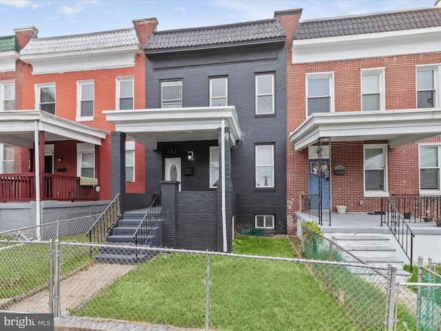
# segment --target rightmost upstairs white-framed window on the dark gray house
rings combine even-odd
[[[256,74],[256,114],[274,114],[274,74]]]

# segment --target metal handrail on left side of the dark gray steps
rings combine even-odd
[[[90,242],[103,242],[120,217],[121,196],[118,194],[88,230],[87,235],[90,238]]]

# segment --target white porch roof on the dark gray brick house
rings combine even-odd
[[[217,140],[225,119],[230,145],[242,137],[234,106],[108,110],[103,112],[116,131],[152,149],[158,142]]]

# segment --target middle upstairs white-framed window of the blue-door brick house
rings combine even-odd
[[[361,109],[384,110],[384,69],[361,70]]]

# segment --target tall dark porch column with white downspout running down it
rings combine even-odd
[[[222,134],[222,131],[225,131]],[[227,252],[232,251],[232,217],[233,217],[233,184],[231,177],[231,149],[229,147],[229,128],[218,128],[219,146],[219,180],[217,189],[217,250],[224,251],[224,242],[227,241]],[[223,150],[222,150],[223,149]],[[223,158],[224,156],[224,158]],[[222,168],[223,167],[223,168]],[[223,174],[225,180],[223,179]],[[223,184],[225,183],[225,187]],[[223,195],[224,194],[224,195]],[[223,199],[225,199],[223,205]],[[225,217],[225,219],[224,219]],[[225,222],[225,233],[223,229]],[[226,238],[224,238],[226,237]]]

